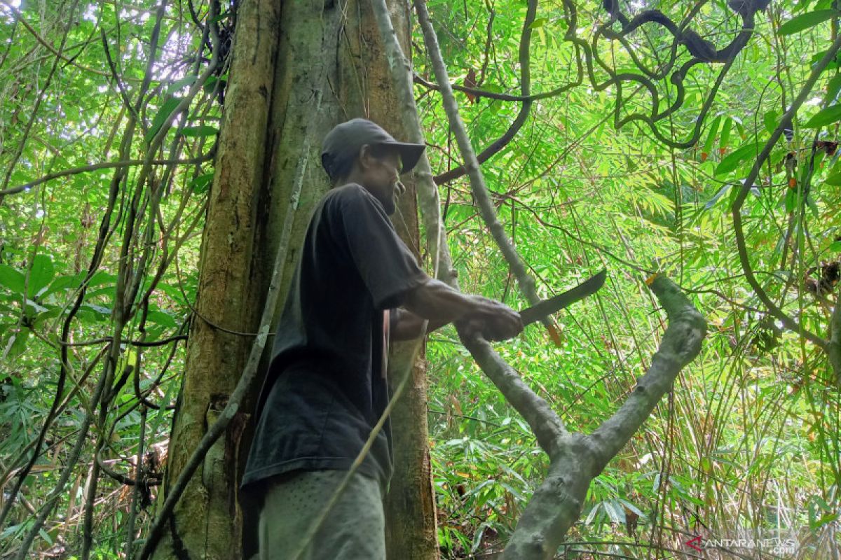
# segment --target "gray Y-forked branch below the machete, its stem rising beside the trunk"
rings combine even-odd
[[[394,72],[404,121],[411,131],[412,141],[420,142],[423,132],[411,96],[408,62],[394,36],[384,0],[372,1],[389,65]],[[421,6],[417,3],[417,7]],[[431,34],[434,35],[434,31]],[[478,170],[478,165],[468,165],[470,167]],[[440,250],[436,264],[440,262],[448,266],[452,260],[443,238],[436,186],[431,181],[426,159],[421,163],[417,178],[421,218],[426,231],[441,236],[435,240],[437,243],[431,245]],[[431,254],[437,253],[433,250]],[[447,280],[453,287],[458,287],[454,277]],[[629,395],[626,403],[590,436],[567,432],[558,414],[526,385],[489,343],[481,338],[462,337],[473,359],[532,427],[538,443],[551,461],[546,479],[535,491],[505,547],[506,558],[546,560],[553,557],[569,527],[578,520],[592,479],[642,426],[653,407],[672,386],[680,369],[701,351],[701,340],[706,333],[706,321],[701,314],[676,285],[662,276],[653,280],[651,290],[669,317],[669,327],[659,351],[654,354],[651,367],[639,379],[637,389]]]

